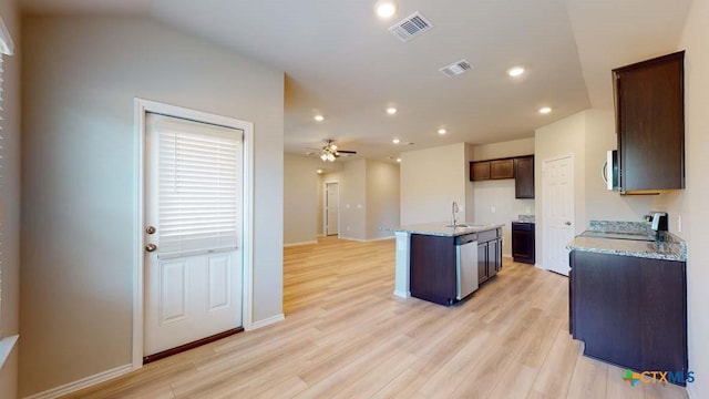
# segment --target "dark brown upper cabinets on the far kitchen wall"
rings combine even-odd
[[[514,178],[515,198],[534,198],[534,155],[470,163],[471,182],[505,178]]]

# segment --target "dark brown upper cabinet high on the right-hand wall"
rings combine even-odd
[[[685,188],[685,52],[613,70],[621,194]]]

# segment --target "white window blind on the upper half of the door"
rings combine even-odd
[[[156,116],[158,257],[234,250],[240,234],[242,131]]]

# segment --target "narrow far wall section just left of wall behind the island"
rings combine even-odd
[[[392,237],[380,227],[399,225],[399,165],[367,161],[367,239]]]

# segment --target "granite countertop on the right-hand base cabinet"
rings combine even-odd
[[[566,245],[571,250],[687,262],[687,246],[679,237],[664,233],[662,241],[635,241],[577,236]]]

